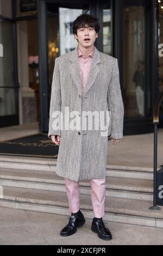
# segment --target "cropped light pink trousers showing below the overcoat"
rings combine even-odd
[[[104,216],[105,178],[90,180],[90,184],[93,214],[96,218],[101,218]],[[65,186],[69,209],[72,213],[75,213],[80,209],[79,181],[73,181],[65,178]]]

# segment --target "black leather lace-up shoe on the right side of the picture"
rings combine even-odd
[[[105,222],[108,223],[108,222]],[[102,218],[93,218],[91,230],[97,233],[98,237],[104,240],[111,240],[112,235],[108,227],[105,226]]]

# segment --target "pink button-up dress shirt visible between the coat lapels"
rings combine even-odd
[[[82,93],[84,95],[85,93],[85,87],[86,87],[86,81],[87,81],[87,76],[89,75],[91,63],[92,63],[92,58],[93,54],[95,52],[95,46],[93,46],[93,50],[91,53],[85,58],[80,51],[80,48],[78,47],[78,59],[79,59],[79,68],[80,68],[80,81],[81,81],[81,86],[82,86]]]

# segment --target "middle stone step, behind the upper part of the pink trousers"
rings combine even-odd
[[[0,185],[66,192],[65,180],[54,172],[0,168]],[[80,181],[80,192],[91,194],[90,181]],[[106,196],[153,200],[153,181],[106,176]]]

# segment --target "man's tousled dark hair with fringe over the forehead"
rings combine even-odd
[[[77,17],[76,20],[74,20],[73,25],[72,25],[72,31],[73,34],[77,35],[77,29],[82,28],[82,27],[92,27],[95,29],[96,33],[98,33],[100,26],[99,26],[99,19],[96,17],[90,15],[90,14],[82,14]]]

